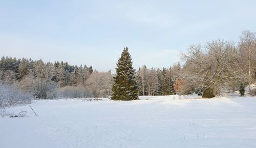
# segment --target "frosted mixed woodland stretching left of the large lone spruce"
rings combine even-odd
[[[39,99],[108,97],[113,81],[111,71],[98,72],[92,66],[8,56],[0,60],[0,78]]]

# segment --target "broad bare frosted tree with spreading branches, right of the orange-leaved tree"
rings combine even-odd
[[[190,91],[202,87],[212,88],[214,95],[234,87],[235,81],[242,79],[238,66],[238,52],[233,42],[214,40],[201,45],[191,45],[182,54],[186,62],[181,79]]]

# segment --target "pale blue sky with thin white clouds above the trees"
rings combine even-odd
[[[0,56],[115,71],[172,66],[190,44],[256,32],[256,1],[0,1]]]

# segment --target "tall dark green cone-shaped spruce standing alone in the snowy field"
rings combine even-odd
[[[135,69],[132,58],[125,47],[117,62],[116,75],[112,85],[111,100],[138,100],[138,86],[135,80]]]

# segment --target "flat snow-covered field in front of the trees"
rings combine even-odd
[[[28,117],[0,117],[0,147],[256,147],[256,97],[197,97],[36,100],[6,109]]]

